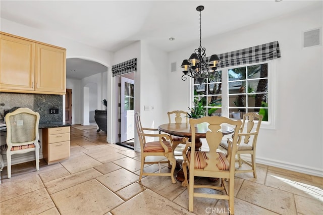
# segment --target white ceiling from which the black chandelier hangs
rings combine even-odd
[[[53,35],[93,47],[116,51],[145,40],[165,51],[199,45],[199,12],[203,5],[202,39],[268,19],[316,7],[321,1],[3,1],[0,16]],[[170,41],[169,38],[175,40]],[[76,78],[70,66],[83,68],[88,61],[67,60],[67,76]],[[94,64],[96,65],[96,63]],[[101,64],[96,65],[98,70]],[[94,71],[93,71],[94,70]],[[106,70],[105,70],[106,71]],[[78,76],[80,78],[80,76]]]

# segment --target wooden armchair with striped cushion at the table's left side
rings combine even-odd
[[[142,176],[171,176],[172,183],[175,184],[174,171],[176,167],[176,159],[170,142],[170,135],[155,133],[158,132],[157,129],[143,128],[139,113],[136,113],[135,119],[141,152],[139,182],[141,182]],[[155,158],[151,158],[150,161],[146,161],[147,156],[155,156]],[[167,160],[160,160],[160,156],[166,157]],[[159,172],[144,172],[144,165],[151,164],[158,164]],[[162,173],[160,164],[169,164],[169,166],[171,166],[171,172]]]

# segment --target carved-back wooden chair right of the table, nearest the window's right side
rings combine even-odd
[[[257,123],[255,123],[257,122]],[[260,125],[262,122],[262,115],[257,113],[247,113],[243,115],[242,126],[238,134],[238,148],[236,152],[236,162],[239,163],[239,168],[236,168],[236,173],[253,173],[253,177],[257,178],[256,174],[256,145],[259,134]],[[219,146],[220,150],[228,150],[228,141],[222,140]],[[241,158],[241,154],[250,154],[251,162]],[[251,169],[240,169],[242,164],[245,163]]]

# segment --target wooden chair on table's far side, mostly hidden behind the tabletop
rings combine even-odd
[[[169,123],[182,123],[182,122],[188,123],[189,118],[188,118],[187,112],[185,111],[171,111],[171,112],[167,112],[167,115],[168,115]],[[179,144],[185,144],[185,142],[183,141],[183,137],[179,137],[175,135],[171,135],[171,137],[172,137],[172,148],[174,151],[174,156],[182,156],[182,153],[175,154],[175,149]]]

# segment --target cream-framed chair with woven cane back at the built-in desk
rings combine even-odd
[[[36,171],[39,170],[39,114],[28,108],[19,108],[5,117],[7,126],[6,145],[0,147],[1,170],[7,157],[8,178],[11,178],[11,155],[35,151]]]

